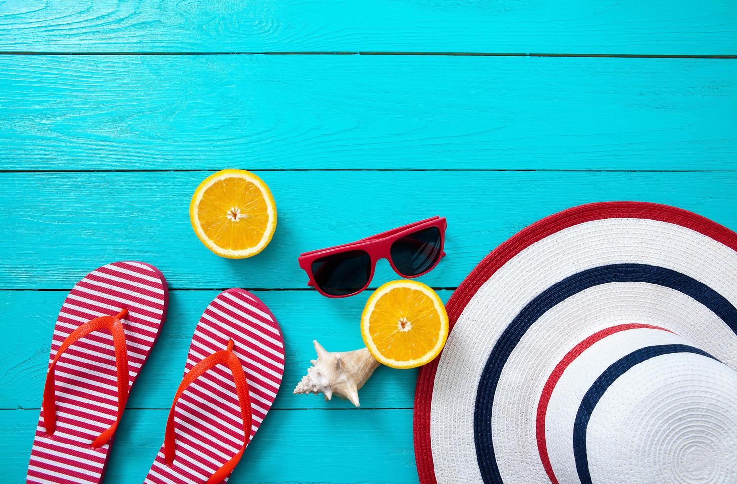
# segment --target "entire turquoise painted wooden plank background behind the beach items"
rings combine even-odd
[[[0,477],[21,482],[66,291],[105,262],[170,282],[108,483],[141,482],[200,312],[258,291],[284,385],[232,483],[412,483],[415,371],[294,396],[313,338],[362,346],[369,292],[307,290],[296,256],[432,215],[450,297],[514,232],[647,200],[737,229],[734,0],[0,1]],[[253,259],[209,253],[189,198],[223,168],[273,190]],[[396,278],[381,264],[374,287]]]

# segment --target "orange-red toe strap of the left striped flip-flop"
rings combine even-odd
[[[118,415],[113,424],[95,438],[92,446],[95,449],[104,446],[115,433],[115,429],[118,427],[120,418],[123,415],[123,410],[125,410],[125,401],[128,399],[128,352],[125,348],[125,332],[120,322],[120,319],[125,318],[126,315],[128,315],[128,310],[122,309],[115,316],[100,316],[99,318],[88,320],[77,329],[74,329],[66,337],[66,340],[61,343],[59,351],[56,352],[54,361],[52,361],[49,367],[49,373],[46,374],[46,386],[43,388],[43,425],[46,427],[46,432],[49,432],[50,435],[53,435],[56,431],[56,364],[69,346],[77,343],[78,340],[88,334],[101,329],[107,329],[113,336],[115,371],[118,383]]]

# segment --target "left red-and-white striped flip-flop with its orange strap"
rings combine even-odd
[[[99,483],[125,401],[167,313],[167,281],[143,262],[88,273],[52,338],[26,480]]]

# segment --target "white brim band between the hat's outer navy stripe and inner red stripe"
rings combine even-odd
[[[639,282],[591,287],[545,312],[512,351],[499,379],[492,414],[492,438],[502,476],[520,471],[530,482],[547,480],[539,466],[536,413],[542,387],[553,368],[585,337],[618,324],[647,323],[673,329],[696,346],[730,341],[733,332],[713,312],[682,292]],[[702,328],[713,328],[710,332]],[[630,330],[635,331],[635,330]],[[637,331],[654,331],[640,329]],[[607,338],[614,337],[609,336]],[[737,365],[728,347],[716,357]],[[514,431],[512,431],[514,429]],[[512,457],[514,455],[514,457]]]

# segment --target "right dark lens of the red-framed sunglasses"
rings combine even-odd
[[[402,236],[391,245],[394,267],[405,276],[416,276],[430,270],[440,259],[441,236],[437,227]]]

